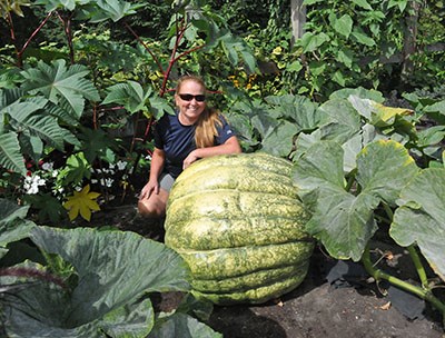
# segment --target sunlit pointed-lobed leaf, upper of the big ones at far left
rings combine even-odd
[[[31,93],[42,93],[55,105],[70,107],[73,118],[78,120],[83,112],[86,99],[100,99],[92,82],[86,79],[88,72],[81,64],[67,68],[65,60],[55,60],[51,64],[39,61],[37,68],[22,72],[26,78],[23,89]]]

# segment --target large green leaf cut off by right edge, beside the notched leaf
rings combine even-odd
[[[421,171],[400,192],[389,235],[407,247],[417,243],[445,281],[445,169]]]

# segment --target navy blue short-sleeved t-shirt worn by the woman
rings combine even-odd
[[[218,136],[215,138],[215,146],[224,145],[235,133],[226,119],[220,116],[222,126],[216,125]],[[184,126],[179,122],[178,112],[166,113],[155,126],[155,147],[166,153],[164,171],[177,178],[182,171],[182,162],[186,157],[196,149],[195,145],[196,126]]]

